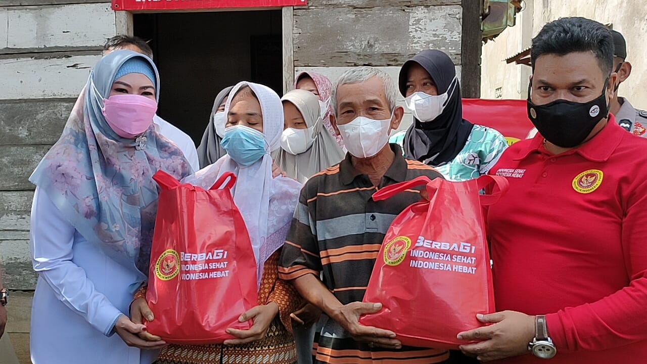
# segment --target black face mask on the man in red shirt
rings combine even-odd
[[[531,80],[528,85],[528,117],[547,141],[562,148],[578,146],[609,114],[605,98],[608,82],[607,78],[602,95],[589,102],[555,100],[545,105],[535,105],[530,100]]]

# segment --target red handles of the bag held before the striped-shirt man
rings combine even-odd
[[[443,181],[446,183],[452,183],[449,181],[445,181],[444,179],[435,179],[434,181],[432,181],[429,179],[429,177],[426,177],[426,176],[416,177],[414,179],[411,179],[411,181],[396,183],[395,185],[391,185],[380,189],[378,192],[375,192],[375,194],[373,194],[373,201],[382,201],[384,199],[389,199],[399,194],[400,192],[403,192],[413,187],[418,187],[420,185],[426,185],[428,198],[432,199],[433,194],[437,192],[438,186],[440,185],[440,183],[443,183]],[[501,198],[501,196],[509,188],[508,180],[505,177],[501,177],[501,176],[485,175],[485,176],[478,177],[476,181],[477,181],[478,190],[482,190],[483,188],[488,187],[492,183],[496,183],[497,187],[499,187],[498,191],[495,194],[479,195],[481,206],[494,205],[494,203],[496,203],[496,201],[499,201],[499,198]]]

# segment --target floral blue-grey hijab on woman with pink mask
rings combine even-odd
[[[108,97],[120,67],[134,57],[149,62],[155,71],[159,100],[153,61],[132,51],[111,52],[94,66],[63,134],[29,180],[86,240],[147,274],[158,200],[153,174],[164,170],[181,179],[191,167],[152,123],[137,139],[124,139],[105,121],[102,99]]]

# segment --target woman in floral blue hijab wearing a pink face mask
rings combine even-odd
[[[158,199],[152,176],[191,172],[181,150],[153,128],[158,89],[149,58],[132,51],[105,56],[30,177],[39,273],[30,337],[35,364],[149,364],[165,344],[127,316],[148,272]]]

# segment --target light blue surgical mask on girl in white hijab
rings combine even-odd
[[[265,135],[248,126],[236,125],[225,129],[220,142],[227,154],[241,166],[248,167],[267,154]]]

